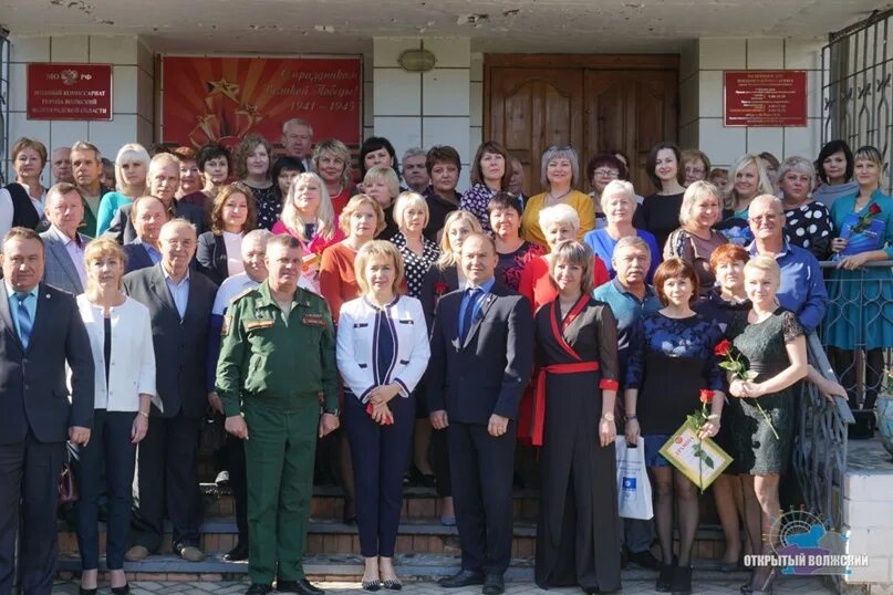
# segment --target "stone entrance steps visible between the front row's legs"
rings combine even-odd
[[[232,497],[218,490],[212,483],[203,484],[205,522],[201,526],[204,562],[191,563],[172,553],[170,530],[165,532],[162,554],[142,562],[125,562],[131,581],[241,581],[248,572],[247,562],[226,562],[228,552],[238,537]],[[359,555],[360,543],[355,525],[341,520],[343,498],[339,488],[315,488],[311,504],[311,522],[308,531],[304,568],[316,581],[359,581],[363,561]],[[515,493],[515,539],[512,564],[507,578],[532,581],[536,549],[536,518],[538,494],[533,490]],[[702,518],[713,503],[709,495],[702,499]],[[710,507],[712,508],[712,507]],[[403,500],[403,518],[396,544],[395,565],[406,581],[430,580],[453,574],[459,567],[459,543],[456,528],[440,524],[438,499],[432,489],[406,488]],[[105,549],[105,531],[100,530],[101,552]],[[77,575],[80,557],[77,539],[68,523],[59,524],[59,576],[68,580]],[[718,568],[723,555],[723,533],[715,525],[702,524],[695,543],[695,565],[704,571]],[[100,561],[101,574],[104,557]],[[715,571],[716,577],[728,578],[728,573]],[[710,573],[713,574],[713,573]],[[624,571],[624,580],[651,580],[654,573],[631,566]],[[745,578],[741,573],[741,578]]]

